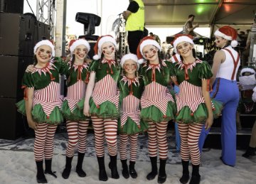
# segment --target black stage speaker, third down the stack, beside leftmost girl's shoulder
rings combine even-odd
[[[0,55],[0,97],[22,98],[21,80],[33,57]]]

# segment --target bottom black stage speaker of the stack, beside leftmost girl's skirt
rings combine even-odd
[[[15,140],[24,134],[26,117],[17,112],[16,102],[0,97],[0,139]]]

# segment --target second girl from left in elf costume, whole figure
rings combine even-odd
[[[71,171],[76,146],[78,146],[78,164],[76,173],[80,177],[85,177],[86,173],[82,170],[82,161],[85,156],[88,119],[85,117],[77,104],[85,97],[86,83],[89,80],[88,64],[90,60],[87,53],[90,51],[90,44],[85,39],[70,41],[71,60],[66,65],[65,75],[67,77],[68,92],[63,101],[62,112],[66,119],[68,131],[68,148],[66,151],[65,169],[62,173],[63,178],[67,179]]]

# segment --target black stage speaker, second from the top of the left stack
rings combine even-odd
[[[33,56],[33,47],[50,38],[50,26],[26,13],[0,13],[0,55]]]

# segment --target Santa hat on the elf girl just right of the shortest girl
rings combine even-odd
[[[139,64],[142,64],[144,62],[143,58],[145,58],[145,55],[143,54],[142,49],[146,45],[154,45],[156,48],[158,48],[161,51],[161,46],[159,45],[159,43],[156,42],[156,40],[154,40],[152,36],[146,36],[142,38],[142,40],[139,42],[139,45],[137,47],[137,56],[139,59],[138,61]]]

